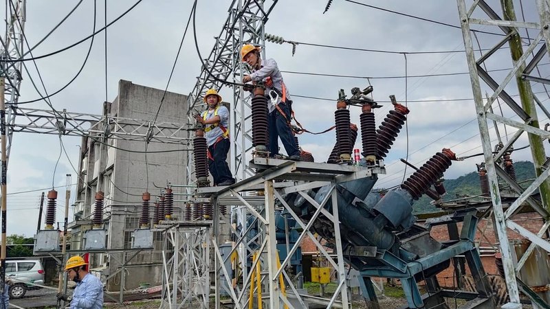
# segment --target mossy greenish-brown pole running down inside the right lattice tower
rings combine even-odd
[[[503,18],[507,21],[516,21],[516,10],[514,10],[514,1],[512,0],[500,0],[500,5],[503,8]],[[514,29],[514,28],[510,28]],[[516,63],[521,56],[523,56],[523,47],[520,34],[517,31],[511,30],[510,39],[508,41],[510,47],[510,54],[514,63]],[[518,84],[518,92],[520,95],[521,106],[525,113],[531,117],[530,126],[540,128],[538,124],[537,110],[535,102],[533,101],[533,91],[531,84],[528,80],[522,78],[522,72],[525,70],[525,63],[521,63],[518,71],[516,71],[516,82]],[[540,176],[544,170],[542,165],[546,161],[546,153],[544,153],[544,146],[542,144],[542,138],[540,135],[527,133],[529,138],[529,147],[531,149],[531,155],[533,156],[533,165],[535,165],[535,174]],[[550,211],[550,182],[546,179],[541,183],[540,198],[542,199],[542,207]]]

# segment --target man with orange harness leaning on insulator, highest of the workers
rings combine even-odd
[[[247,62],[252,67],[252,73],[243,77],[243,83],[260,80],[265,83],[265,94],[269,109],[267,127],[270,135],[270,157],[279,155],[278,139],[281,138],[289,159],[300,161],[300,150],[296,146],[290,127],[292,100],[290,100],[288,89],[285,82],[283,82],[283,76],[277,67],[277,62],[271,58],[262,60],[260,47],[254,47],[252,44],[243,46],[241,58],[243,62]],[[276,100],[272,102],[272,98],[276,98]]]

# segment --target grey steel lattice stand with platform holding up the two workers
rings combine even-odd
[[[385,171],[380,169],[367,169],[360,168],[357,166],[350,165],[327,165],[325,163],[309,163],[309,162],[293,162],[279,159],[265,159],[265,158],[254,158],[252,161],[252,168],[259,168],[264,170],[259,174],[256,174],[252,177],[249,177],[245,181],[241,181],[235,186],[232,187],[223,187],[219,189],[218,187],[202,187],[198,188],[197,192],[203,195],[212,195],[212,202],[214,203],[214,209],[219,208],[219,205],[240,205],[243,209],[246,209],[245,213],[254,218],[255,223],[252,225],[257,225],[258,231],[254,239],[248,237],[248,229],[245,225],[239,229],[232,229],[234,236],[236,238],[232,251],[227,253],[227,255],[222,256],[221,250],[219,249],[219,241],[217,240],[216,229],[217,218],[219,214],[214,218],[214,236],[212,236],[212,247],[216,253],[216,261],[214,266],[214,272],[216,275],[216,295],[219,295],[219,290],[223,286],[221,279],[221,274],[225,278],[230,278],[230,272],[225,268],[225,260],[227,260],[232,253],[245,252],[244,255],[239,254],[239,262],[241,264],[241,280],[237,278],[237,284],[234,288],[228,288],[232,286],[232,282],[225,282],[226,291],[232,299],[232,303],[235,308],[248,308],[250,301],[250,289],[251,289],[251,279],[253,271],[245,271],[249,265],[248,262],[252,262],[250,266],[251,270],[256,268],[257,263],[261,263],[261,295],[264,295],[265,303],[268,305],[267,308],[276,309],[283,308],[281,306],[281,301],[288,308],[296,308],[292,306],[289,301],[288,296],[292,295],[300,307],[305,308],[304,305],[304,296],[298,293],[294,283],[290,279],[289,275],[285,271],[285,266],[289,265],[292,255],[296,252],[298,247],[300,247],[302,240],[305,238],[311,238],[311,240],[316,244],[318,251],[323,255],[324,258],[333,266],[337,271],[338,276],[338,288],[336,292],[333,293],[330,299],[327,300],[327,308],[333,308],[337,298],[340,297],[338,301],[338,308],[350,308],[351,303],[347,294],[347,282],[346,282],[346,269],[342,249],[342,236],[340,235],[340,220],[338,218],[338,207],[331,207],[331,210],[325,209],[325,204],[328,201],[331,201],[332,205],[338,205],[337,201],[337,190],[336,185],[340,182],[350,181],[351,179],[360,179],[364,177],[370,177],[374,172],[383,173]],[[274,182],[274,179],[296,179],[296,173],[301,174],[300,181],[292,180],[286,182]],[[302,172],[302,173],[300,173]],[[311,173],[309,172],[318,172]],[[322,175],[322,176],[321,176]],[[318,203],[311,198],[308,193],[309,190],[322,187],[325,185],[330,185],[331,190],[327,192],[327,195]],[[250,196],[244,194],[245,192],[255,192],[257,190],[263,190],[263,196]],[[296,192],[307,199],[311,205],[316,207],[316,212],[311,216],[308,222],[305,222],[296,214],[294,209],[284,199],[286,194]],[[276,201],[282,205],[286,211],[298,222],[302,231],[296,243],[289,247],[289,253],[287,258],[283,262],[278,264],[278,253],[276,249],[277,240],[276,240],[276,227],[275,227],[275,203]],[[314,232],[310,229],[314,225],[314,222],[318,220],[320,215],[325,216],[325,220],[329,220],[330,224],[327,229],[331,229],[334,233],[334,239],[336,248],[334,249],[332,255],[336,255],[336,258],[333,258],[331,254],[327,252],[325,247],[320,244],[320,242],[314,236]],[[325,222],[325,221],[323,221]],[[250,247],[252,242],[256,247]],[[254,249],[256,248],[256,249]],[[247,253],[247,251],[249,251]],[[251,260],[252,253],[256,252],[256,258]],[[281,292],[280,278],[283,277],[282,281],[285,286],[287,286],[286,295],[283,295]],[[254,288],[256,291],[258,286]],[[255,293],[254,293],[255,294]],[[254,299],[254,297],[252,297]],[[216,308],[219,307],[219,297],[216,299]]]

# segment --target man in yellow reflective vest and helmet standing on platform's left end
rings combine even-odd
[[[208,170],[214,179],[214,185],[232,185],[235,179],[227,162],[229,152],[229,111],[221,104],[221,95],[216,89],[206,91],[204,102],[208,109],[195,116],[197,122],[206,125],[206,143],[208,144]]]

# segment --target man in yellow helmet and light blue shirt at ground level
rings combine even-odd
[[[67,260],[65,272],[67,278],[76,282],[76,288],[72,295],[71,309],[103,308],[103,286],[98,277],[91,275],[86,271],[87,263],[80,256],[74,256]],[[57,293],[57,299],[68,301],[67,294]]]

